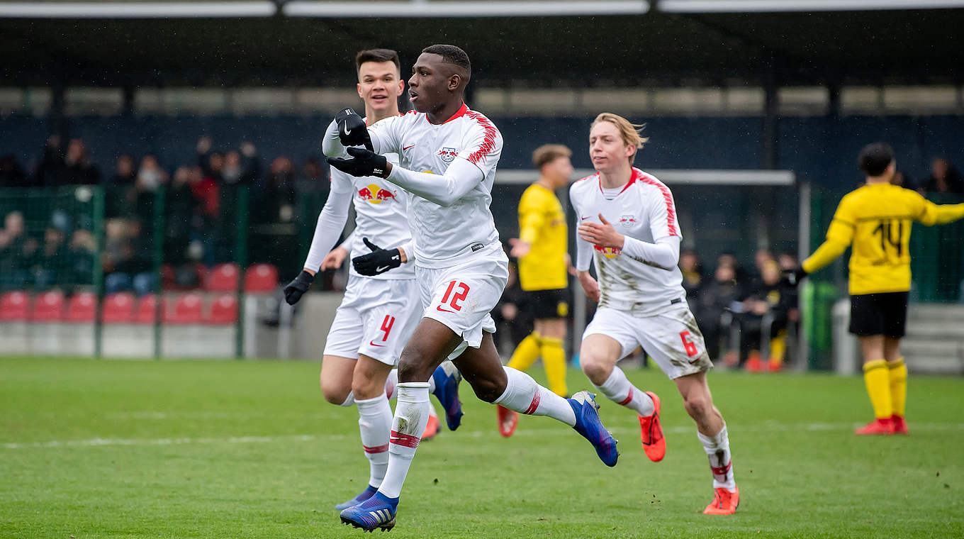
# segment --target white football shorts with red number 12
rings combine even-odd
[[[483,331],[495,333],[489,312],[509,281],[509,259],[498,244],[486,251],[447,268],[415,266],[422,304],[428,306],[424,316],[442,322],[464,339],[449,359],[457,358],[468,346],[478,348]]]

